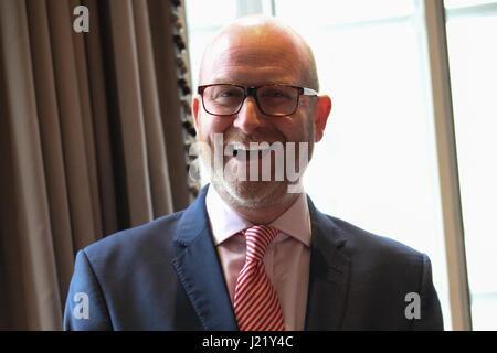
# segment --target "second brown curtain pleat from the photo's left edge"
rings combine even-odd
[[[27,1],[32,47],[38,121],[43,153],[43,167],[49,197],[50,220],[61,299],[66,296],[65,284],[71,280],[73,267],[73,238],[57,97],[54,82],[53,57],[45,0]]]

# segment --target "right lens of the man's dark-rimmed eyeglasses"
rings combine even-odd
[[[298,90],[283,85],[263,86],[257,90],[257,100],[264,114],[290,115],[298,104]]]

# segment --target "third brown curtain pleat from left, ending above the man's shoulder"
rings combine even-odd
[[[73,240],[77,248],[97,239],[94,228],[82,103],[77,84],[77,67],[71,17],[66,1],[47,0],[53,65],[56,67],[55,89],[62,130],[65,173],[68,189]]]

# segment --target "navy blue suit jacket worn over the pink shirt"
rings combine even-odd
[[[64,329],[237,330],[205,193],[187,210],[80,250]],[[426,255],[327,216],[310,199],[308,205],[306,330],[443,329]],[[420,296],[419,319],[405,315],[410,292]]]

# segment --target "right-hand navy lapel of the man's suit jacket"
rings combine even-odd
[[[306,330],[339,330],[349,287],[350,261],[340,252],[346,238],[308,199],[311,220]]]

